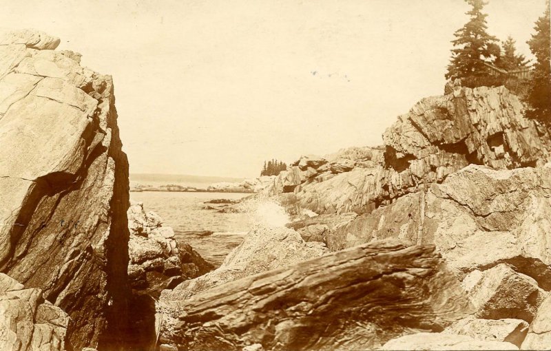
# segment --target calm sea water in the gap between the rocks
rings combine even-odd
[[[171,226],[179,243],[190,244],[207,261],[220,266],[231,249],[238,246],[251,226],[246,213],[219,213],[203,209],[204,202],[215,199],[239,200],[243,193],[183,193],[165,191],[131,192],[130,200],[143,202],[145,211],[153,211]],[[214,231],[209,236],[186,233]]]

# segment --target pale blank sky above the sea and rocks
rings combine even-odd
[[[0,0],[0,28],[35,28],[114,77],[131,173],[253,177],[375,146],[442,94],[462,0]],[[489,34],[520,53],[545,0],[489,0]]]

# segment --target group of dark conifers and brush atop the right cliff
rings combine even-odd
[[[519,95],[529,105],[528,116],[544,123],[551,123],[551,75],[550,75],[550,6],[546,1],[546,10],[534,27],[535,33],[527,43],[536,62],[528,81],[519,80],[510,74],[496,74],[488,65],[506,72],[527,67],[530,63],[521,54],[517,54],[515,41],[508,36],[506,41],[499,40],[486,32],[486,17],[482,12],[487,4],[484,0],[465,0],[471,10],[466,12],[469,21],[457,30],[452,41],[452,57],[446,72],[446,79],[461,79],[461,85],[479,87],[505,85],[514,94]]]

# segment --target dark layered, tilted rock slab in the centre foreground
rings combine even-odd
[[[269,270],[181,304],[176,345],[165,350],[367,350],[472,312],[434,246],[397,242]]]

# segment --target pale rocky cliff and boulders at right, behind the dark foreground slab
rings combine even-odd
[[[434,343],[423,346],[419,335],[408,337],[418,341],[411,350],[488,342],[502,349],[502,341],[514,349],[532,320],[530,330],[538,331],[528,332],[523,347],[541,348],[546,331],[539,330],[547,329],[536,321],[551,290],[548,131],[525,118],[504,87],[455,85],[399,117],[385,132],[382,151],[374,150],[351,152],[348,161],[302,158],[280,173],[270,191],[289,213],[319,214],[288,226],[331,251],[391,237],[435,244],[475,306],[470,318],[493,328],[494,338],[448,332],[462,335],[433,334]],[[401,342],[388,347],[403,348]]]

